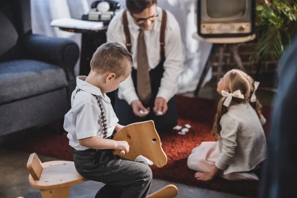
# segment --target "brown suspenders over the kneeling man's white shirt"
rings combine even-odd
[[[167,24],[167,13],[164,9],[162,9],[162,23],[160,28],[160,56],[161,61],[165,61],[165,30],[166,30],[166,24]],[[128,18],[127,18],[127,9],[123,12],[123,25],[124,25],[124,32],[126,36],[126,47],[128,51],[131,53],[131,36],[130,31],[128,28]]]

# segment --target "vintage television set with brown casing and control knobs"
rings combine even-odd
[[[255,32],[255,0],[198,0],[198,35],[247,37]]]

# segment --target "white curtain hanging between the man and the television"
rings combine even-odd
[[[195,91],[212,44],[192,38],[197,32],[197,0],[158,0],[158,5],[169,10],[177,19],[183,41],[185,70],[179,77],[179,93]],[[210,69],[204,82],[211,79]]]

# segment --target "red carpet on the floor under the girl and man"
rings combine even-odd
[[[179,114],[179,125],[190,124],[192,128],[186,135],[178,135],[177,131],[159,133],[162,147],[167,154],[168,163],[157,168],[152,166],[153,177],[157,179],[177,182],[181,184],[196,186],[230,194],[236,194],[247,197],[257,197],[259,182],[255,181],[228,181],[221,178],[215,178],[212,181],[197,181],[194,178],[195,171],[187,167],[187,157],[191,150],[197,147],[202,141],[213,141],[210,131],[215,115],[215,103],[209,99],[192,99],[187,97],[177,97],[177,106]],[[270,120],[271,109],[263,107],[263,115]],[[27,152],[36,152],[46,156],[57,157],[64,160],[73,160],[72,152],[68,146],[66,136],[61,136],[60,132],[54,130],[57,128],[51,124],[39,129],[36,133],[30,133],[24,144],[19,145],[18,149]],[[267,131],[266,124],[264,126]]]

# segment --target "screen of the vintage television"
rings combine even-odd
[[[242,18],[246,0],[206,0],[206,13],[210,18]]]

